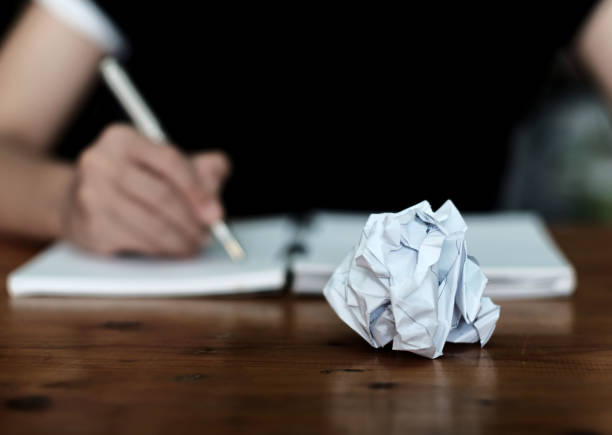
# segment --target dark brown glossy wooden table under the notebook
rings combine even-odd
[[[570,299],[487,347],[376,350],[320,298],[0,298],[1,433],[612,431],[612,228],[556,228]],[[2,281],[39,246],[0,242]]]

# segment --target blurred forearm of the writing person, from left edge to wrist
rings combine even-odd
[[[70,165],[0,135],[0,232],[59,236],[73,177]]]

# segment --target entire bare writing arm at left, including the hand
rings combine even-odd
[[[47,151],[104,55],[30,5],[0,50],[0,231],[61,236],[91,251],[183,256],[221,218],[221,153],[188,158],[127,125],[107,126],[76,165]]]

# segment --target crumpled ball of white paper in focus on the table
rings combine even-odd
[[[423,201],[399,213],[373,214],[325,297],[374,347],[393,340],[395,350],[437,358],[447,341],[484,346],[499,306],[482,296],[487,278],[468,256],[466,230],[451,201],[435,213]]]

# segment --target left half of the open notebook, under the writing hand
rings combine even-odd
[[[9,275],[20,295],[187,296],[281,288],[286,246],[294,234],[288,218],[238,221],[232,231],[247,258],[233,263],[218,243],[194,259],[106,258],[58,242]]]

